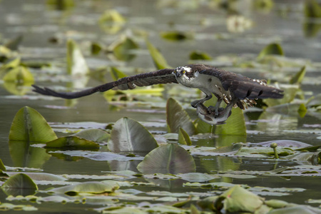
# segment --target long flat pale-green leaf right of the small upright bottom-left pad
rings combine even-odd
[[[60,188],[54,188],[48,190],[48,193],[60,193],[70,196],[74,195],[93,195],[93,194],[103,194],[103,193],[113,193],[119,188],[118,183],[112,180],[105,182],[83,182],[75,185],[67,185]]]

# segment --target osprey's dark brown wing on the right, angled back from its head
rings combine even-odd
[[[198,65],[199,73],[215,76],[220,80],[225,91],[233,93],[240,100],[256,98],[282,98],[283,91],[267,86],[265,80],[252,79],[230,71],[220,70],[213,66]]]

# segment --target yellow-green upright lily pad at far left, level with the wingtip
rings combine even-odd
[[[24,66],[18,66],[7,71],[6,75],[4,75],[3,80],[5,82],[34,83],[34,76],[32,76],[32,73],[28,68]]]

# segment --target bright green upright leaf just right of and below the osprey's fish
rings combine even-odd
[[[240,108],[233,108],[225,124],[215,126],[215,134],[246,136],[245,118]]]

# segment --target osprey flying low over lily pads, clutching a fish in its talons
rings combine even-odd
[[[248,106],[254,106],[256,104],[255,99],[283,97],[282,90],[267,86],[265,80],[248,78],[203,64],[190,64],[175,69],[165,68],[149,73],[141,73],[83,91],[56,92],[49,88],[40,88],[34,85],[33,91],[47,96],[73,99],[88,96],[98,91],[103,92],[110,89],[126,90],[133,89],[136,86],[151,86],[159,83],[180,83],[188,88],[198,88],[203,91],[206,95],[205,98],[193,101],[190,104],[197,108],[198,116],[203,121],[210,123],[210,120],[212,120],[211,124],[223,123],[230,116],[232,107],[239,107],[244,110]],[[215,106],[209,106],[208,109],[205,109],[206,107],[203,106],[203,103],[212,98],[212,94],[218,98],[218,101]],[[228,106],[220,108],[222,101]],[[215,121],[215,118],[223,119]]]

